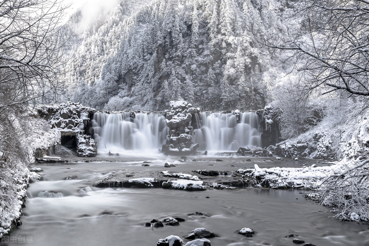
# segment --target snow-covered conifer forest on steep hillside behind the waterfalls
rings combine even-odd
[[[82,29],[76,11],[64,30],[68,98],[106,110],[163,110],[179,98],[202,110],[263,108],[287,63],[261,40],[285,31],[284,9],[274,0],[120,0]]]

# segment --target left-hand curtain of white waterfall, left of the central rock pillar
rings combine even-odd
[[[165,143],[165,117],[159,113],[96,112],[93,117],[94,138],[100,154],[127,150],[158,151]]]

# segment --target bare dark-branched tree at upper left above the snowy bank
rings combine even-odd
[[[58,0],[0,1],[1,130],[15,127],[15,122],[19,128],[24,110],[59,87],[64,10]],[[9,134],[0,134],[3,154],[15,147],[10,139],[5,141]]]

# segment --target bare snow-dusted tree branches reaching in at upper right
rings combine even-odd
[[[286,36],[265,34],[305,75],[304,88],[369,95],[369,1],[280,0],[289,9]]]

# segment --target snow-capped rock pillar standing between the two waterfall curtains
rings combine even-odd
[[[187,101],[171,101],[170,110],[165,110],[168,127],[167,143],[162,152],[166,155],[193,155],[199,144],[192,143],[192,115],[200,109],[193,108]]]

